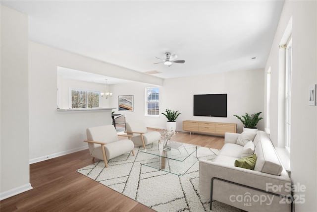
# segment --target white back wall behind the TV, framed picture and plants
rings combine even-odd
[[[160,86],[159,117],[145,116],[145,88],[151,84],[128,83],[112,85],[110,107],[117,107],[118,95],[133,95],[134,111],[117,111],[129,120],[144,120],[147,126],[165,128],[166,117],[161,115],[165,109],[178,110],[182,114],[177,118],[177,130],[182,130],[184,120],[237,123],[238,132],[243,124],[233,115],[264,111],[264,70],[233,71],[203,76],[164,79]],[[227,93],[227,118],[193,116],[193,95]],[[264,120],[258,125],[264,130]]]

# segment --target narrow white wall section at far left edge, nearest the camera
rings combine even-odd
[[[28,17],[5,6],[1,6],[0,70],[0,199],[3,199],[32,189],[29,183]]]

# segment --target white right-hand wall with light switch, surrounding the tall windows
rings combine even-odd
[[[298,200],[296,212],[317,211],[317,106],[308,105],[309,86],[317,83],[317,1],[291,1],[284,3],[279,25],[265,70],[271,67],[271,139],[278,145],[280,129],[278,99],[280,79],[278,46],[292,18],[292,111],[290,166],[293,184],[306,186],[305,191],[295,190],[294,195],[305,195]],[[266,114],[265,114],[266,116]],[[297,196],[299,197],[299,196]],[[302,196],[303,197],[303,196]]]

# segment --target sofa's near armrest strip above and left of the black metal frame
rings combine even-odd
[[[210,198],[211,178],[216,177],[230,182],[239,183],[264,191],[274,192],[268,185],[282,185],[280,191],[274,193],[280,195],[291,194],[285,186],[291,185],[287,172],[283,170],[280,176],[266,174],[259,171],[228,166],[218,162],[199,160],[200,194]],[[267,184],[269,183],[269,184]]]

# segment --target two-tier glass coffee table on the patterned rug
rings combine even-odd
[[[163,141],[154,144],[152,148],[141,150],[149,154],[149,159],[143,165],[183,176],[196,162],[197,149],[200,146],[171,141],[171,150],[163,150]]]

